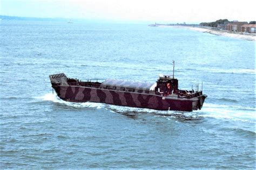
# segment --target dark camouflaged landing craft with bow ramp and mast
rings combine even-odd
[[[155,110],[193,111],[203,107],[203,89],[180,90],[178,79],[159,75],[156,83],[107,79],[81,81],[64,73],[49,75],[52,88],[67,102],[97,102]]]

